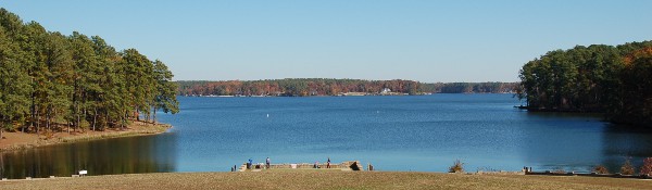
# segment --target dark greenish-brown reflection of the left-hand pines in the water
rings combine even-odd
[[[116,138],[7,152],[2,177],[71,176],[174,172],[176,136]]]

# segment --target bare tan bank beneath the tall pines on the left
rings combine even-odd
[[[133,122],[129,126],[122,128],[108,128],[104,131],[60,131],[53,132],[50,137],[27,132],[2,132],[3,139],[0,139],[0,152],[17,151],[38,147],[71,143],[78,141],[89,141],[98,139],[109,139],[118,137],[149,136],[167,131],[172,128],[167,124],[151,124],[145,122]]]

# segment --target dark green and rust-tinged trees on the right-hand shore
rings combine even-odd
[[[550,51],[521,69],[518,97],[532,111],[599,112],[652,127],[652,41]]]

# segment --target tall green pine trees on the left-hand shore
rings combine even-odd
[[[99,36],[48,31],[0,9],[0,136],[124,127],[178,112],[173,74],[135,49]],[[45,130],[43,130],[45,129]]]

